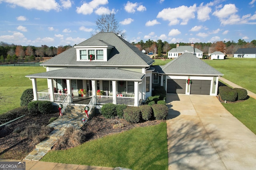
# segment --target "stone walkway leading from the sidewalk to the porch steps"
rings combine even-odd
[[[65,109],[63,116],[60,116],[58,119],[47,125],[48,127],[54,128],[54,131],[49,134],[49,138],[38,143],[36,149],[30,152],[24,160],[40,160],[52,149],[58,139],[64,135],[67,127],[73,126],[80,129],[84,125],[82,118],[88,121],[86,113],[84,112],[84,107],[85,106],[81,105],[69,105],[68,108]]]

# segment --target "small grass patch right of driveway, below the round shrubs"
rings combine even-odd
[[[244,102],[222,104],[234,117],[256,134],[256,99],[249,98]]]

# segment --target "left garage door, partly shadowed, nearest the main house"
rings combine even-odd
[[[185,94],[186,80],[168,79],[167,80],[167,93]]]

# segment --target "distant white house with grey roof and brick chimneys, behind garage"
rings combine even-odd
[[[188,45],[180,46],[180,44],[177,43],[176,48],[173,48],[170,51],[168,51],[167,57],[168,58],[176,58],[176,57],[182,55],[183,53],[191,53],[198,58],[203,57],[203,52],[197,48],[194,48],[194,43],[191,43],[190,46],[188,46]]]

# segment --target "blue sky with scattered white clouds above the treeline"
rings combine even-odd
[[[78,44],[112,12],[126,40],[197,43],[256,39],[256,0],[0,0],[0,41]]]

